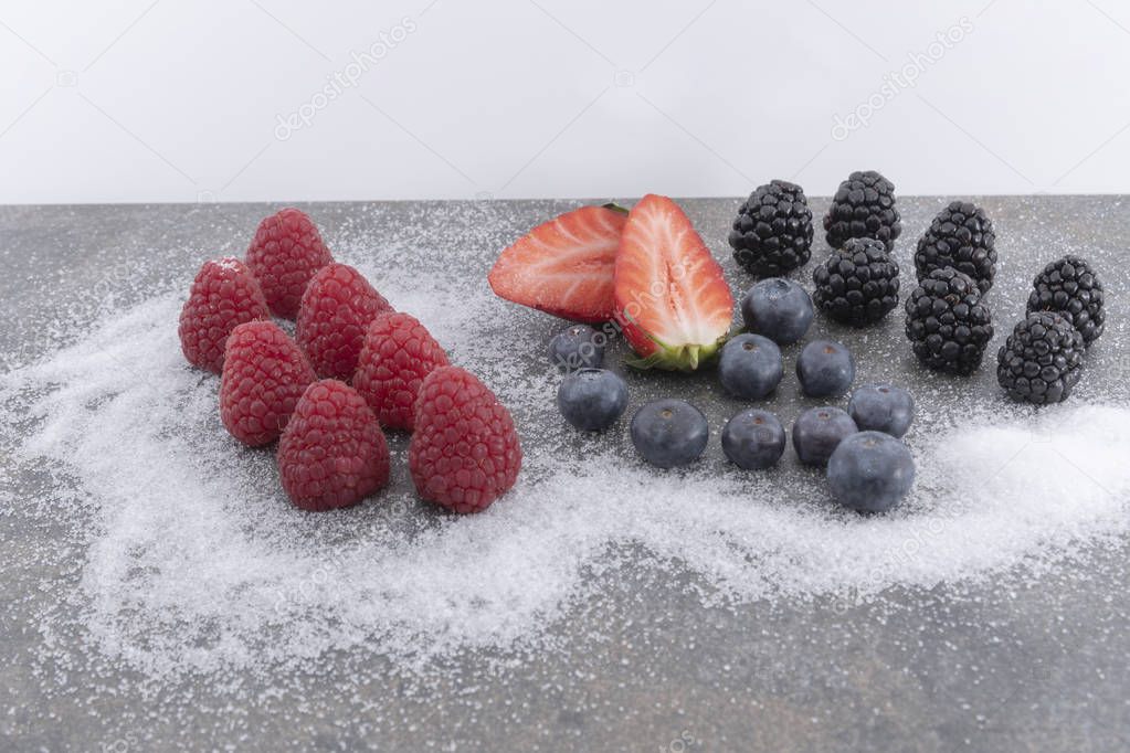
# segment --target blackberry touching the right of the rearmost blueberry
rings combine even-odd
[[[898,305],[898,263],[875,238],[849,238],[812,270],[812,303],[843,324],[875,324]]]

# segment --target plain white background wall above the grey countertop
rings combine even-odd
[[[0,202],[1127,193],[1128,72],[1118,0],[8,1]]]

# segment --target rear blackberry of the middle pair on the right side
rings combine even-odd
[[[997,277],[997,234],[984,210],[967,201],[955,201],[938,212],[914,252],[919,280],[930,272],[953,266],[989,292]]]

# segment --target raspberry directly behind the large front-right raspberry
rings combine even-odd
[[[409,314],[389,312],[365,332],[353,385],[381,426],[411,431],[420,383],[440,366],[447,366],[447,353],[424,325]]]

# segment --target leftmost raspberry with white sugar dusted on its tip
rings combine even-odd
[[[193,366],[219,374],[232,330],[270,317],[263,291],[246,264],[233,256],[205,262],[181,309],[181,350]]]

